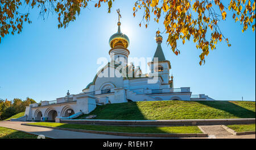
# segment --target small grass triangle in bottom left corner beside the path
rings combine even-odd
[[[36,135],[26,134],[10,128],[0,127],[0,139],[36,139]]]

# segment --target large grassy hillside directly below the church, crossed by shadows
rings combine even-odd
[[[97,106],[94,119],[167,120],[255,118],[255,102],[245,101],[152,101]],[[82,115],[77,119],[82,119]]]

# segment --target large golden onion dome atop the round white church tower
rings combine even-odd
[[[127,48],[129,46],[129,38],[127,35],[122,34],[120,26],[121,26],[121,22],[117,23],[118,25],[118,31],[117,33],[113,34],[110,39],[109,39],[109,45],[111,48],[117,47],[117,46],[121,46],[124,48]]]

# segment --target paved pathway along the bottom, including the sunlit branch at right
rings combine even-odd
[[[30,132],[35,135],[45,135],[49,138],[57,139],[145,139],[147,137],[135,137],[135,136],[116,136],[116,135],[104,135],[104,134],[90,134],[85,132],[75,132],[75,131],[65,131],[56,130],[51,128],[43,127],[32,127],[23,126],[21,123],[25,122],[10,122],[2,121],[0,122],[0,127],[13,128],[14,130]],[[254,135],[240,135],[235,136],[230,134],[228,131],[224,130],[221,126],[200,126],[205,132],[210,136],[209,138],[223,138],[223,139],[255,139]],[[221,127],[221,128],[220,128]],[[228,132],[228,133],[227,133]],[[170,138],[176,139],[176,138]],[[207,139],[207,138],[182,138],[182,139]]]

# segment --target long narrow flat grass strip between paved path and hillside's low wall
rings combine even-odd
[[[94,131],[110,132],[129,132],[129,133],[154,133],[154,134],[201,134],[197,126],[180,126],[180,127],[122,127],[122,126],[98,126],[86,124],[67,124],[67,123],[49,123],[37,122],[28,123],[48,127],[75,128]]]

